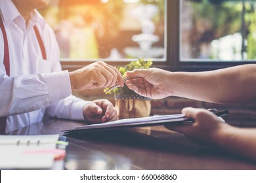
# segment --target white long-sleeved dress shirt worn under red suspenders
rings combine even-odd
[[[0,117],[8,116],[6,133],[40,122],[45,114],[83,120],[83,101],[71,95],[68,71],[61,71],[53,30],[34,10],[26,25],[11,0],[0,1],[0,16],[9,43],[10,76],[3,64],[4,41],[0,30]],[[33,30],[37,25],[47,60]]]

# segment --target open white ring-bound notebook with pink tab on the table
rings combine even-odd
[[[0,169],[51,169],[59,135],[0,135]]]

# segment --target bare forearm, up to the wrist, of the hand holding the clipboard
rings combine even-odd
[[[228,127],[215,137],[217,146],[246,158],[256,159],[256,128]]]

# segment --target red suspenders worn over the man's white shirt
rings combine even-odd
[[[5,25],[3,25],[3,20],[0,16],[0,28],[3,33],[3,42],[4,42],[4,56],[3,56],[3,64],[5,65],[5,71],[8,76],[10,76],[10,56],[9,56],[9,45],[8,45],[8,40],[7,40],[7,33],[5,31]],[[46,58],[46,52],[45,52],[45,46],[43,44],[43,41],[41,39],[41,36],[39,34],[39,31],[37,27],[34,25],[33,29],[35,31],[35,35],[37,37],[37,41],[39,42],[39,46],[41,48],[41,53],[43,56],[43,59]],[[6,122],[7,122],[7,117],[2,117],[0,118],[0,135],[5,134],[5,128],[6,128]]]

